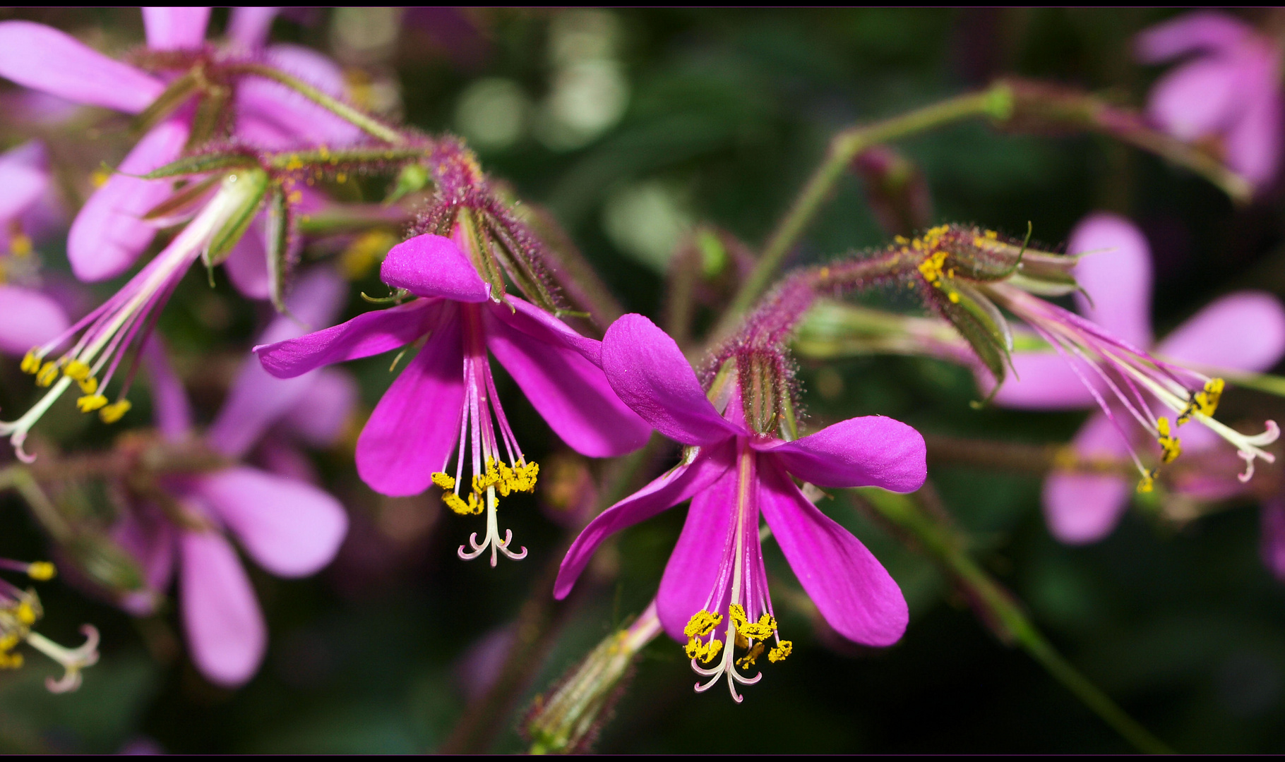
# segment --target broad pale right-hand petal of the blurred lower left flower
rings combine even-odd
[[[315,574],[348,532],[339,501],[307,482],[236,466],[202,478],[197,488],[251,558],[278,577]]]

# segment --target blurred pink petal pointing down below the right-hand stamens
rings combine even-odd
[[[1132,425],[1124,421],[1124,425]],[[1128,430],[1128,429],[1126,429]],[[1119,459],[1128,447],[1101,412],[1090,416],[1072,446],[1082,457]],[[1052,472],[1043,486],[1045,518],[1054,537],[1070,545],[1096,542],[1110,535],[1128,508],[1133,484],[1115,474]]]

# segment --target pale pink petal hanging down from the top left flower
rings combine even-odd
[[[152,243],[155,227],[141,217],[170,197],[171,182],[128,175],[144,175],[179,158],[186,141],[188,125],[182,120],[161,122],[125,157],[121,173],[112,175],[85,202],[67,234],[67,258],[76,278],[116,278]]]

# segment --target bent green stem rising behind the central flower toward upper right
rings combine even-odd
[[[905,137],[915,132],[923,132],[934,127],[941,127],[951,122],[971,117],[989,116],[1004,120],[1011,111],[1011,95],[1007,85],[997,84],[979,93],[957,95],[941,103],[934,103],[907,114],[875,122],[849,127],[830,140],[830,150],[821,166],[812,173],[812,177],[803,186],[794,204],[785,217],[777,224],[776,230],[763,245],[763,253],[754,265],[753,272],[745,279],[731,307],[723,316],[721,328],[716,332],[722,334],[729,330],[740,315],[757,299],[781,266],[785,256],[794,248],[803,230],[812,222],[826,197],[834,190],[839,179],[848,168],[848,163],[862,150],[888,140]]]

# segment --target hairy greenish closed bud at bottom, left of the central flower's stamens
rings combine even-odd
[[[522,732],[533,754],[573,754],[594,743],[623,695],[634,663],[660,634],[655,601],[631,626],[607,636],[549,695],[536,696]]]

